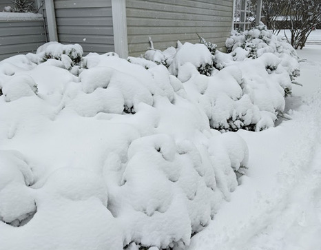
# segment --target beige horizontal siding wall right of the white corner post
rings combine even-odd
[[[225,46],[231,32],[233,0],[126,0],[129,54],[140,55],[149,48],[164,50],[176,41],[207,41]]]

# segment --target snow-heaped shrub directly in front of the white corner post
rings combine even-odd
[[[115,67],[117,64],[118,67]],[[121,68],[130,70],[130,73]],[[83,71],[79,80],[83,93],[68,105],[73,105],[79,112],[87,114],[85,116],[94,116],[98,112],[135,114],[140,103],[152,105],[155,95],[166,96],[169,101],[174,100],[171,77],[163,65],[142,71],[140,65],[110,56],[101,60],[97,67]],[[103,96],[106,98],[105,103],[98,104]],[[89,101],[90,98],[92,101]],[[80,103],[85,103],[87,107],[84,109]]]

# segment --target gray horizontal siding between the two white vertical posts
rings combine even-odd
[[[54,0],[60,43],[79,43],[85,54],[114,51],[111,0]]]

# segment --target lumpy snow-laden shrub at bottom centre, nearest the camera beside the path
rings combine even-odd
[[[240,150],[228,153],[222,142],[230,142],[222,135],[210,141],[209,149],[198,149],[189,140],[175,143],[167,134],[138,138],[130,145],[123,175],[118,178],[114,171],[121,169],[121,159],[114,154],[107,158],[109,209],[125,222],[125,243],[159,249],[183,247],[191,235],[209,224],[222,197],[229,199],[238,185],[231,166],[239,169],[247,164],[247,146],[235,134],[229,136]],[[234,154],[239,158],[233,158]]]

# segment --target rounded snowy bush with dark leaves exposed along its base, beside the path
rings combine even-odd
[[[248,71],[249,76],[245,76]],[[273,127],[276,110],[284,109],[284,92],[271,84],[274,81],[265,70],[265,60],[257,59],[226,67],[211,77],[195,74],[184,85],[187,96],[207,114],[211,127],[222,132],[260,131]]]

